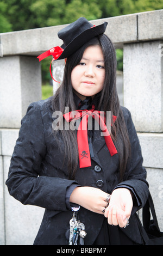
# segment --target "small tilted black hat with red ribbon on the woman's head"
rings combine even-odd
[[[72,22],[70,25],[61,29],[58,32],[58,37],[62,39],[62,41],[64,42],[64,44],[62,44],[61,47],[53,47],[50,50],[42,53],[37,58],[39,58],[39,60],[41,61],[42,59],[45,59],[46,57],[52,55],[54,57],[53,60],[65,59],[72,53],[76,52],[87,41],[91,40],[92,38],[95,38],[95,36],[97,35],[103,34],[105,32],[107,25],[108,22],[104,22],[101,25],[93,26],[84,17],[80,17],[77,21]]]

